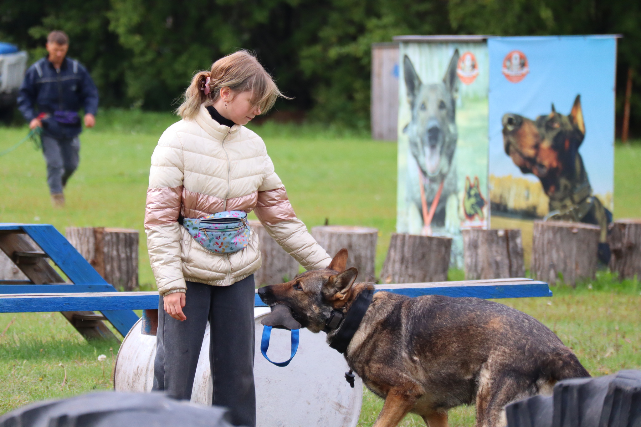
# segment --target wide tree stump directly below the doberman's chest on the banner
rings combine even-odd
[[[535,221],[531,273],[551,285],[562,280],[576,286],[577,280],[594,278],[599,233],[597,225]]]

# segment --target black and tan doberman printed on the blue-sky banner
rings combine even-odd
[[[522,173],[533,173],[549,197],[549,217],[599,225],[599,259],[607,264],[606,243],[612,213],[598,198],[583,166],[579,147],[585,138],[581,95],[576,95],[569,115],[556,112],[554,104],[537,120],[508,113],[503,115],[503,147]]]

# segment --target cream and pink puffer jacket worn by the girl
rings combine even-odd
[[[307,270],[325,268],[329,255],[296,218],[265,143],[241,125],[212,119],[201,106],[162,134],[151,156],[145,230],[151,268],[161,295],[185,292],[185,280],[229,286],[261,265],[258,236],[233,254],[214,254],[178,224],[178,214],[202,218],[221,211],[255,210],[279,245]]]

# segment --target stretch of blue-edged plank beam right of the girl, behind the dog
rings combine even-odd
[[[465,280],[462,282],[408,283],[399,285],[375,285],[375,292],[385,291],[406,296],[443,295],[472,296],[484,300],[494,298],[529,298],[552,296],[547,283],[530,278],[495,280]],[[258,293],[254,296],[256,307],[267,307]]]

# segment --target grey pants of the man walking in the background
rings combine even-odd
[[[42,152],[47,162],[47,184],[51,194],[62,193],[67,180],[78,168],[80,138],[56,139],[42,135]]]

